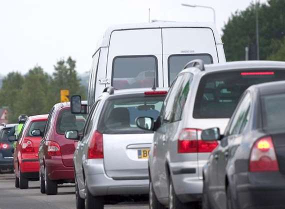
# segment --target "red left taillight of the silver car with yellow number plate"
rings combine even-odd
[[[97,130],[93,133],[88,145],[88,159],[104,158],[103,135]]]

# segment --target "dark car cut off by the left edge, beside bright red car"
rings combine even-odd
[[[16,124],[7,124],[0,130],[0,173],[13,170],[13,141],[8,140],[12,127]]]

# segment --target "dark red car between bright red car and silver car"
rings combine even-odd
[[[83,130],[86,114],[71,114],[70,103],[55,104],[48,116],[38,150],[40,192],[57,193],[57,185],[74,182],[73,153],[77,141],[64,137],[66,130]]]

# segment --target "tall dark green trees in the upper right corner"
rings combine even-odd
[[[268,0],[258,6],[260,59],[267,59],[280,48],[285,32],[284,10],[284,0]],[[231,15],[223,28],[222,40],[227,61],[244,60],[244,48],[256,47],[254,4]]]

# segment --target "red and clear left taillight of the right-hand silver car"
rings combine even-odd
[[[211,152],[216,146],[216,141],[201,140],[201,129],[184,128],[177,141],[178,153]]]

